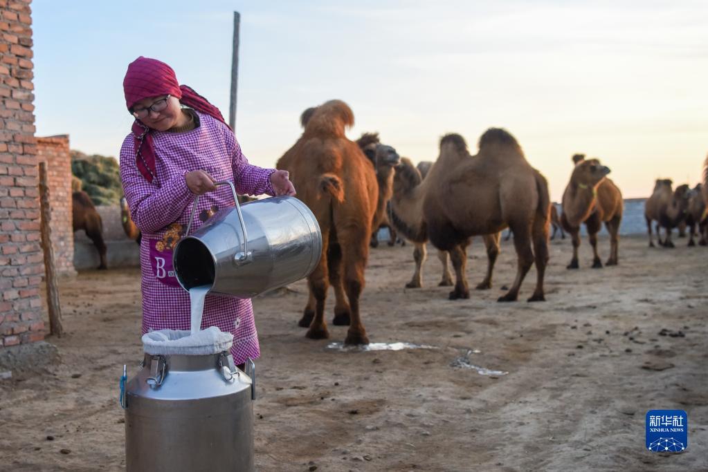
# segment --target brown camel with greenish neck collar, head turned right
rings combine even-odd
[[[610,257],[605,265],[619,263],[619,223],[622,222],[622,192],[615,182],[607,178],[609,167],[597,159],[586,160],[584,155],[573,155],[576,163],[571,180],[563,193],[563,214],[561,224],[573,240],[573,259],[568,269],[578,269],[578,247],[580,247],[580,225],[585,223],[588,239],[593,247],[593,268],[603,266],[598,255],[598,232],[605,223],[610,233]]]

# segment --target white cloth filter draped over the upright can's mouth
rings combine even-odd
[[[142,336],[142,349],[149,355],[209,355],[228,351],[234,335],[224,333],[216,326],[198,331],[160,329]]]

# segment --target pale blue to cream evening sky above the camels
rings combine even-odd
[[[596,157],[625,198],[695,185],[708,153],[708,2],[34,0],[37,136],[118,158],[138,56],[170,64],[229,111],[241,14],[236,136],[273,167],[307,107],[350,105],[413,162],[444,134],[512,133],[561,199],[571,155]]]

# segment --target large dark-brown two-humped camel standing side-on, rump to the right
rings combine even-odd
[[[426,179],[409,189],[408,198],[397,199],[395,185],[394,224],[410,240],[423,242],[428,237],[433,246],[450,253],[456,278],[451,300],[469,298],[464,270],[470,237],[495,235],[507,226],[514,232],[518,270],[512,287],[498,301],[518,299],[534,259],[537,285],[529,301],[545,300],[543,278],[551,204],[548,187],[506,130],[487,130],[479,138],[479,153],[474,157],[462,136],[443,136],[438,160]]]

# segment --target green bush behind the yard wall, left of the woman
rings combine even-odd
[[[72,174],[96,205],[117,205],[123,196],[118,161],[104,155],[72,151]]]

